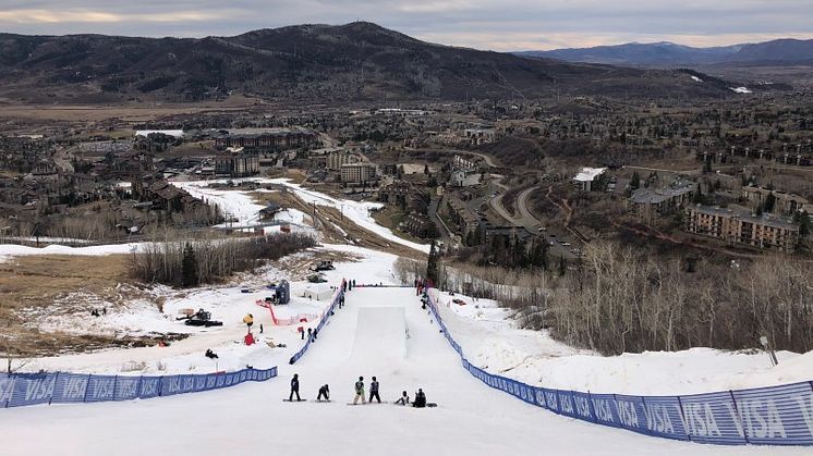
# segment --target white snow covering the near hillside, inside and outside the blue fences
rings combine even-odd
[[[337,262],[336,270],[326,272],[329,284],[338,284],[342,278],[360,284],[398,284],[393,255],[342,245],[319,249],[360,258]],[[163,313],[153,300],[134,301],[122,310],[90,319],[90,326],[64,321],[61,329],[172,331],[187,332],[190,337],[168,347],[39,358],[25,367],[136,374],[278,366],[280,379],[147,400],[3,409],[2,454],[810,454],[809,448],[720,447],[653,439],[568,419],[517,400],[488,389],[463,370],[437,323],[421,309],[413,288],[363,287],[350,292],[347,306],[337,310],[311,350],[290,366],[288,359],[302,345],[296,328],[272,326],[269,311],[255,304],[267,294],[262,285],[287,278],[287,271],[268,267],[240,284],[184,293],[154,289],[156,296],[165,297]],[[325,310],[329,300],[302,296],[308,285],[292,283],[293,300],[275,307],[278,317]],[[246,287],[250,293],[242,293]],[[517,329],[508,311],[494,301],[440,294],[439,304],[448,329],[473,363],[532,384],[592,392],[682,394],[813,378],[811,354],[781,353],[778,368],[770,368],[764,354],[704,348],[600,357],[557,343],[543,332]],[[223,326],[185,326],[174,320],[184,308],[205,308],[214,319],[223,321]],[[246,313],[255,317],[254,333],[259,337],[253,346],[241,343],[246,331],[241,320]],[[265,329],[262,335],[260,323]],[[271,347],[269,343],[287,346]],[[206,358],[203,353],[207,348],[219,359]],[[307,403],[281,400],[287,397],[293,373],[300,374]],[[385,400],[393,400],[402,390],[413,395],[422,387],[429,402],[440,406],[348,407],[344,403],[352,399],[357,375],[367,381],[377,375]],[[333,402],[314,403],[324,383],[330,385]]]

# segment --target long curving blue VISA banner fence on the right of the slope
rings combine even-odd
[[[490,387],[555,414],[656,437],[697,443],[813,445],[813,382],[685,396],[593,394],[532,386],[494,375],[469,362],[449,334],[432,296],[429,309],[460,355],[463,368],[472,375]]]

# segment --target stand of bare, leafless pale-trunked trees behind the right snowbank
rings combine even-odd
[[[423,269],[425,271],[425,268]],[[399,260],[409,283],[420,264]],[[666,257],[616,243],[592,243],[565,274],[440,264],[441,289],[499,300],[523,326],[573,346],[624,352],[770,346],[813,349],[813,266],[766,255],[732,262]]]

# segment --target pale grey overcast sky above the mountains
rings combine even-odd
[[[202,37],[369,21],[500,51],[813,38],[813,0],[0,0],[0,32]]]

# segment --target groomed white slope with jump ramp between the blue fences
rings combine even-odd
[[[157,399],[0,410],[8,455],[808,455],[652,439],[546,412],[464,371],[412,288],[355,288],[280,378]],[[283,403],[293,373],[306,403]],[[435,409],[347,406],[359,375],[381,397],[423,387]],[[332,403],[315,403],[319,385]]]

